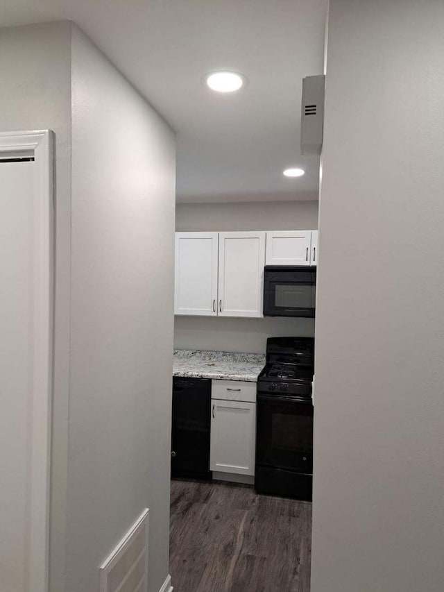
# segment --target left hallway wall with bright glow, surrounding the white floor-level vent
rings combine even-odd
[[[150,509],[168,574],[175,137],[72,30],[72,299],[66,592]]]

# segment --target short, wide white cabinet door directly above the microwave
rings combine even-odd
[[[270,230],[266,233],[267,265],[309,265],[311,230]]]

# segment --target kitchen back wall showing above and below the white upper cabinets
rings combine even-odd
[[[318,228],[318,202],[178,203],[176,230],[304,230]],[[265,353],[267,337],[314,335],[313,319],[227,319],[175,316],[174,346]]]

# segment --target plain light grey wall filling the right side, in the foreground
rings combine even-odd
[[[330,0],[312,592],[444,586],[443,23]]]

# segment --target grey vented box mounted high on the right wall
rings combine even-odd
[[[325,76],[302,78],[300,153],[321,154],[324,125]]]

